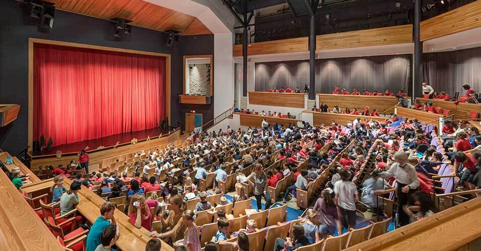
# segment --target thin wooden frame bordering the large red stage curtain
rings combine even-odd
[[[33,88],[33,65],[34,65],[33,50],[34,50],[34,44],[48,44],[48,45],[66,46],[66,47],[74,47],[74,48],[85,48],[85,49],[93,49],[93,50],[148,55],[148,56],[155,56],[155,57],[165,57],[165,104],[164,105],[165,105],[166,116],[168,116],[169,119],[171,118],[170,116],[171,56],[170,54],[121,49],[121,48],[98,46],[98,45],[78,44],[78,43],[45,40],[45,39],[38,39],[38,38],[29,38],[28,39],[28,145],[29,146],[33,146],[33,89],[34,89]],[[32,149],[29,148],[29,151],[31,150]]]

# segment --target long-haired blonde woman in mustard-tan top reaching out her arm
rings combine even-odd
[[[172,242],[184,238],[185,229],[187,226],[182,224],[182,215],[187,208],[187,203],[182,199],[180,194],[173,195],[169,198],[169,205],[167,209],[169,210],[169,216],[167,219],[161,218],[162,225],[167,227],[167,231],[163,233],[154,233],[154,237],[164,239],[168,242],[169,238],[172,237]]]

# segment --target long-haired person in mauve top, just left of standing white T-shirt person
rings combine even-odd
[[[319,222],[321,223],[319,233],[323,238],[327,238],[329,234],[334,234],[336,226],[340,225],[333,193],[330,188],[322,190],[321,197],[314,204],[314,210],[319,212]]]

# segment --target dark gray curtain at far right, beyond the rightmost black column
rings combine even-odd
[[[481,91],[481,48],[425,54],[424,80],[449,95],[464,95],[464,84]]]

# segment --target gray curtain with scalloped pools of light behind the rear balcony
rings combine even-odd
[[[334,85],[348,91],[397,92],[408,90],[411,55],[316,59],[316,93],[331,93]],[[255,64],[255,90],[299,87],[309,83],[309,61],[264,62]]]

